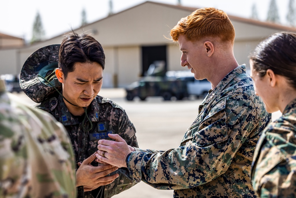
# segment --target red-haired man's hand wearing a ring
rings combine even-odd
[[[108,134],[115,140],[99,140],[96,161],[112,164],[116,167],[126,167],[126,157],[131,153],[131,148],[118,134]],[[132,148],[133,149],[133,148]],[[104,152],[105,151],[105,152]],[[104,152],[104,157],[103,157]]]

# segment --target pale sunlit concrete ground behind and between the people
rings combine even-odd
[[[176,148],[198,114],[200,99],[185,99],[182,101],[163,101],[161,97],[150,97],[146,101],[135,99],[126,101],[125,90],[121,88],[102,89],[101,96],[112,99],[126,110],[128,117],[136,127],[139,147],[143,149],[168,150]],[[24,93],[16,94],[28,104],[34,104]],[[273,113],[273,119],[280,112]],[[114,198],[171,198],[172,190],[157,190],[144,182],[138,183],[127,191],[115,195]]]

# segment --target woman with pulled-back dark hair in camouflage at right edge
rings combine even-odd
[[[296,197],[296,34],[279,32],[250,56],[256,94],[283,115],[264,129],[255,149],[252,183],[259,197]]]

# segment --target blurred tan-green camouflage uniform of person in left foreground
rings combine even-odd
[[[0,80],[0,197],[75,197],[74,153],[65,128],[4,90]]]

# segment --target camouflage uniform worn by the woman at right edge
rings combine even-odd
[[[252,183],[259,197],[296,197],[296,99],[268,124],[252,164]]]

